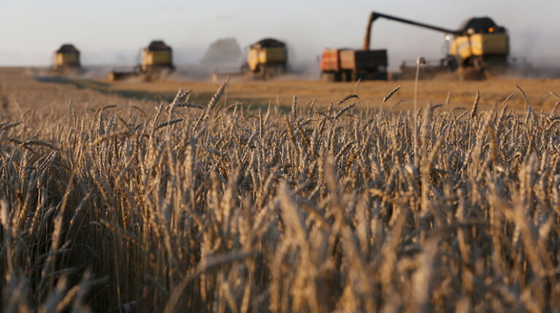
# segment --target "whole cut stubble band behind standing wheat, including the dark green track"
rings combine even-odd
[[[0,69],[0,116],[6,113],[25,112],[32,108],[64,107],[68,100],[74,106],[87,106],[92,110],[108,104],[152,107],[160,101],[168,101],[180,87],[193,89],[191,101],[205,104],[215,93],[219,83],[213,82],[108,82],[106,79],[79,80],[45,78],[33,75],[26,68]],[[61,83],[64,82],[64,83]],[[550,91],[560,94],[560,79],[489,79],[486,81],[458,82],[452,80],[420,81],[418,86],[419,106],[428,103],[445,103],[450,92],[450,107],[470,108],[481,91],[481,109],[498,108],[509,94],[514,94],[508,102],[509,107],[523,109],[525,101],[518,84],[528,97],[528,103],[535,110],[552,110],[558,98]],[[273,80],[269,82],[232,81],[227,94],[222,98],[227,103],[239,101],[246,105],[265,106],[280,103],[291,106],[293,96],[298,96],[300,106],[316,99],[317,106],[327,106],[348,94],[357,94],[369,108],[380,106],[383,97],[395,87],[400,86],[395,96],[384,108],[409,110],[414,103],[414,81],[330,83],[319,80]],[[134,99],[132,99],[134,98]],[[396,106],[395,106],[396,104]]]

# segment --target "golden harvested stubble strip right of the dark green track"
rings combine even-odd
[[[101,81],[104,82],[104,81]],[[435,80],[420,81],[418,101],[421,105],[432,103],[445,103],[447,94],[450,93],[450,106],[464,107],[473,104],[476,91],[482,95],[481,108],[492,108],[494,103],[502,104],[504,99],[511,93],[516,94],[508,101],[512,108],[525,108],[526,104],[521,94],[516,89],[516,84],[523,88],[529,96],[528,101],[536,110],[550,109],[554,106],[554,99],[550,98],[549,91],[557,89],[560,79],[490,79],[488,81],[466,81]],[[229,84],[227,95],[230,101],[239,100],[245,104],[267,105],[281,103],[291,106],[294,95],[298,95],[303,104],[313,99],[322,106],[327,106],[331,101],[338,101],[345,94],[359,94],[360,98],[368,108],[377,108],[389,91],[400,86],[400,92],[392,98],[392,103],[387,103],[391,108],[399,103],[397,110],[412,110],[414,102],[414,81],[389,81],[389,82],[355,82],[329,83],[322,81],[298,81],[298,80],[273,80],[240,82],[233,81]],[[201,100],[208,98],[219,87],[219,83],[208,82],[117,82],[109,84],[109,91],[151,91],[155,93],[167,93],[174,96],[180,87],[193,89],[193,96]]]

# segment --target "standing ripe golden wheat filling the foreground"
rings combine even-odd
[[[554,90],[547,112],[522,87],[524,110],[464,112],[226,90],[4,115],[1,311],[559,312]]]

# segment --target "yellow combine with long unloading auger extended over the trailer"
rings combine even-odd
[[[502,72],[508,65],[509,36],[507,30],[502,26],[498,26],[491,18],[469,18],[469,20],[462,23],[459,30],[450,30],[444,27],[372,12],[369,16],[364,47],[369,46],[371,25],[378,18],[386,18],[437,32],[444,32],[446,39],[450,39],[452,35],[450,51],[445,58],[440,60],[439,65],[442,70],[447,70],[447,72],[459,70],[462,76],[466,72],[487,75],[489,71]],[[405,69],[406,66],[403,65],[402,68]]]

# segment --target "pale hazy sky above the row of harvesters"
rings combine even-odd
[[[314,61],[327,47],[360,48],[371,11],[456,29],[473,16],[507,28],[511,56],[560,65],[559,0],[0,0],[0,66],[50,65],[72,43],[82,65],[134,65],[153,39],[174,49],[177,65],[198,63],[208,46],[234,37],[241,48],[265,37],[286,41],[291,60]],[[379,19],[372,49],[388,49],[390,68],[445,54],[444,34]]]

